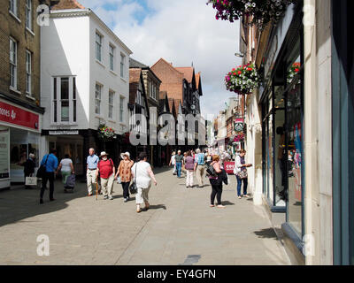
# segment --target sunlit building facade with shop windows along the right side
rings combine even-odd
[[[354,264],[350,8],[298,1],[263,30],[243,19],[263,80],[247,99],[250,187],[294,264]]]

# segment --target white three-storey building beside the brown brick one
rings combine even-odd
[[[66,8],[66,7],[65,7]],[[128,132],[129,56],[132,51],[96,14],[80,9],[50,11],[42,27],[42,155],[51,148],[68,153],[83,172],[90,147],[117,157],[119,136]],[[97,139],[105,124],[114,142]]]

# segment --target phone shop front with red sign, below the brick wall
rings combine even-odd
[[[0,100],[0,189],[25,181],[24,167],[29,154],[40,147],[40,114]]]

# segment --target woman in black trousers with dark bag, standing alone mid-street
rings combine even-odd
[[[209,181],[212,185],[212,195],[211,195],[211,207],[215,207],[214,201],[215,196],[217,197],[218,201],[218,208],[223,209],[225,208],[224,205],[221,203],[221,195],[222,195],[222,176],[221,176],[221,167],[219,164],[220,157],[215,155],[212,156],[212,163],[210,164],[215,172],[215,175],[209,176]]]

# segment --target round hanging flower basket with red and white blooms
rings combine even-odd
[[[239,65],[225,77],[227,90],[239,95],[249,95],[259,86],[259,75],[255,65]]]

